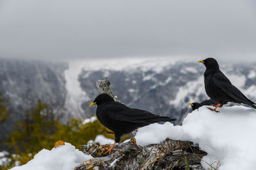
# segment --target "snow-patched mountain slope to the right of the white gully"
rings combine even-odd
[[[95,108],[88,108],[88,104],[99,94],[95,82],[106,77],[116,95],[127,106],[175,117],[176,124],[180,124],[184,115],[191,110],[189,102],[208,98],[204,89],[205,67],[196,61],[159,58],[138,59],[133,63],[122,59],[88,63],[84,64],[79,74],[81,88],[90,99],[84,101],[82,106],[86,113],[95,113]],[[255,65],[220,62],[221,70],[230,81],[256,101]]]

